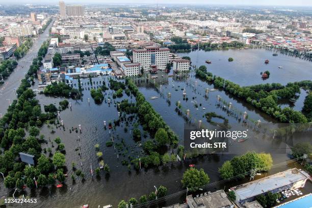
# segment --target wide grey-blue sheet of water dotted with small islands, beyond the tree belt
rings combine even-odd
[[[278,56],[272,56],[277,53]],[[207,71],[241,86],[263,83],[281,83],[311,80],[312,62],[266,49],[241,49],[220,51],[193,51],[178,54],[191,57],[192,65],[207,66]],[[229,62],[228,58],[234,60]],[[268,59],[269,63],[265,64]],[[205,63],[210,60],[212,63]],[[281,66],[282,68],[278,68]],[[270,72],[270,78],[263,80],[260,73]]]

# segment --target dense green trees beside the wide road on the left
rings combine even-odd
[[[44,47],[46,42],[42,44]],[[41,54],[42,56],[45,53]],[[42,60],[42,59],[41,59]],[[18,188],[22,190],[24,184],[29,188],[35,187],[34,177],[37,178],[38,186],[54,184],[55,179],[64,181],[63,166],[65,155],[56,152],[53,159],[41,154],[40,143],[44,142],[44,135],[40,135],[40,127],[44,122],[52,121],[56,118],[56,110],[53,106],[44,106],[45,113],[41,111],[39,101],[31,86],[31,78],[34,76],[35,66],[41,61],[35,58],[25,79],[17,89],[17,100],[9,106],[7,113],[0,119],[0,172],[6,175],[5,186],[7,188]],[[25,130],[29,136],[25,137]],[[38,137],[39,136],[39,137]],[[25,166],[19,159],[19,152],[34,155],[35,166]],[[55,169],[57,168],[57,169]]]

